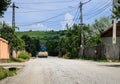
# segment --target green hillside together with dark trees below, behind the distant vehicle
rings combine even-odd
[[[59,39],[65,36],[66,31],[28,31],[17,32],[25,42],[25,50],[35,56],[40,51],[40,45],[45,45],[49,55],[58,56]]]

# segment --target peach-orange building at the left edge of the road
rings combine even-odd
[[[0,38],[0,63],[6,62],[9,58],[10,57],[8,41]]]

